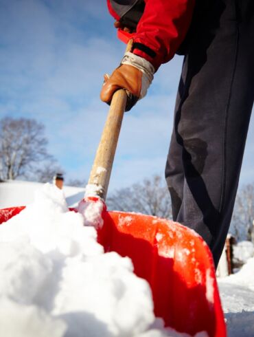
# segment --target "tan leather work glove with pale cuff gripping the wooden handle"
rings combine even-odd
[[[121,64],[111,76],[104,75],[104,85],[100,93],[103,102],[111,104],[113,94],[118,89],[125,89],[129,111],[138,100],[146,96],[154,74],[153,65],[145,58],[126,52]]]

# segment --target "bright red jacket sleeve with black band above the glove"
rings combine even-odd
[[[132,52],[157,70],[174,56],[192,21],[195,0],[146,0]]]

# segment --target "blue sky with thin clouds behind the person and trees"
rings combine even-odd
[[[108,112],[102,77],[125,50],[106,0],[0,0],[0,32],[0,116],[43,122],[67,180],[88,180]],[[109,192],[163,175],[181,63],[161,66],[148,96],[125,114]],[[253,124],[241,184],[254,181]]]

